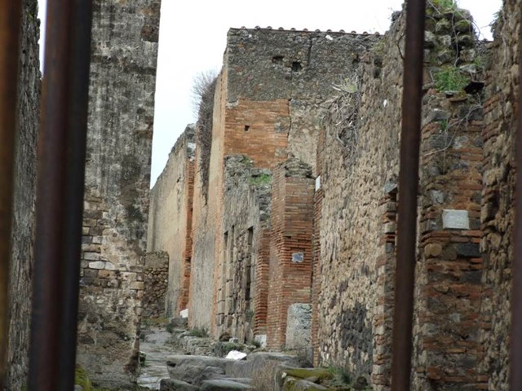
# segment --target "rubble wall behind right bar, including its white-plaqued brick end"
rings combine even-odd
[[[394,14],[330,100],[319,145],[315,361],[346,364],[376,389],[390,380],[404,28]],[[482,83],[470,81],[481,48],[464,10],[430,6],[426,30],[413,381],[480,387]],[[469,77],[446,85],[447,72]]]

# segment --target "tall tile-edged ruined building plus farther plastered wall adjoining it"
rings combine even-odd
[[[243,340],[266,341],[267,329],[277,328],[282,332],[268,343],[284,345],[288,307],[310,303],[310,214],[321,103],[375,40],[338,32],[229,31],[207,136],[211,143],[207,150],[196,148],[193,182],[186,174],[186,147],[179,146],[190,137],[188,128],[152,190],[148,251],[173,251],[170,265],[178,270],[170,272],[176,284],[169,288],[176,291],[167,300],[170,313],[188,308],[191,326]],[[192,187],[193,198],[184,201]],[[160,192],[165,196],[158,197]],[[173,197],[175,203],[169,202]],[[180,219],[172,219],[176,208]],[[192,227],[184,220],[191,209]],[[183,262],[189,243],[161,247],[162,236],[192,238],[188,267]],[[289,277],[271,289],[269,271],[279,267]],[[188,285],[180,272],[187,268]],[[187,294],[188,302],[175,299]],[[279,302],[281,295],[285,299]],[[271,304],[284,315],[269,323]]]

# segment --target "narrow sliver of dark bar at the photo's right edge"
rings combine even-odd
[[[515,139],[516,185],[515,185],[515,226],[513,228],[513,281],[511,319],[511,368],[509,380],[512,390],[522,384],[522,27],[519,33],[518,53],[518,128]]]

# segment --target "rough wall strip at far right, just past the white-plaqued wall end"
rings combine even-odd
[[[518,107],[520,1],[505,0],[495,23],[484,102],[481,241],[484,359],[490,390],[509,389],[510,297],[513,261],[515,135]]]

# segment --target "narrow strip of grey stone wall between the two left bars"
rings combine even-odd
[[[9,271],[7,378],[0,386],[17,391],[28,372],[31,323],[36,149],[40,107],[40,21],[37,0],[23,2],[18,72],[13,234]]]

